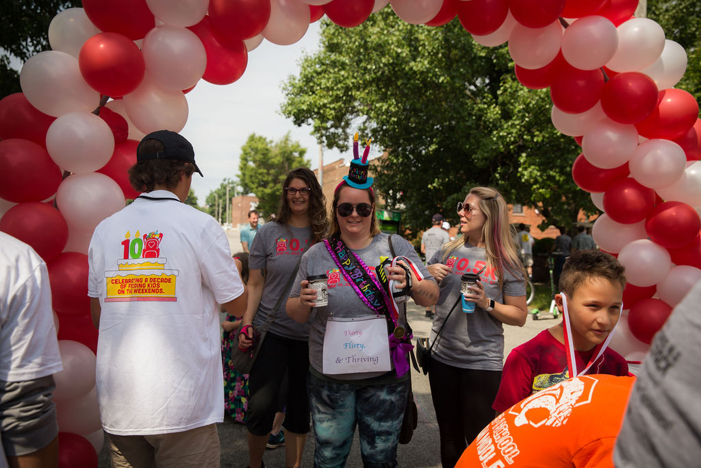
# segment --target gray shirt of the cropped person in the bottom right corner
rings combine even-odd
[[[701,282],[653,340],[615,444],[620,468],[697,467],[701,460]]]

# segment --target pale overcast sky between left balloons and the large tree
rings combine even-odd
[[[319,22],[309,25],[304,37],[292,46],[263,41],[248,54],[246,71],[238,81],[217,86],[200,80],[187,94],[189,117],[181,133],[195,148],[197,164],[205,175],[192,178],[200,205],[222,179],[238,175],[241,146],[251,133],[275,141],[289,131],[292,140],[307,149],[312,168],[318,167],[319,149],[311,126],[294,126],[280,114],[283,81],[299,72],[302,55],[318,51],[318,43]],[[324,149],[325,163],[341,157],[351,159],[351,154]]]

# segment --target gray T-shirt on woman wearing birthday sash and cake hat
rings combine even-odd
[[[355,255],[365,262],[365,265],[374,269],[380,264],[380,257],[391,257],[390,248],[387,241],[387,234],[377,234],[366,248],[353,250]],[[396,255],[403,255],[414,262],[424,276],[423,281],[434,281],[433,276],[428,274],[428,270],[423,266],[421,260],[416,255],[416,250],[411,244],[400,236],[392,236],[392,245]],[[307,276],[325,274],[328,277],[329,305],[312,309],[309,323],[309,362],[318,373],[322,374],[324,334],[326,322],[329,316],[334,318],[351,318],[375,315],[375,312],[362,302],[351,283],[346,281],[339,267],[332,260],[325,243],[317,243],[309,248],[302,256],[297,279],[290,292],[290,297],[299,297],[301,290],[300,282]],[[416,281],[416,280],[414,280]],[[404,320],[400,323],[404,324]],[[374,373],[353,373],[339,374],[331,376],[334,380],[364,380],[372,377],[379,377],[385,372]]]

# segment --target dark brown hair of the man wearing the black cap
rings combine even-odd
[[[158,140],[144,140],[138,147],[138,154],[163,151],[163,143]],[[195,167],[187,161],[175,159],[149,159],[139,161],[128,170],[129,183],[137,192],[151,192],[156,185],[165,185],[173,189],[180,182],[181,175],[186,177],[195,172]]]

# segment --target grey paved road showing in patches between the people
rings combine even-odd
[[[238,241],[238,229],[227,231],[231,251],[236,253],[240,250]],[[423,307],[409,302],[407,307],[409,321],[414,329],[414,336],[427,337],[430,331],[431,321],[426,318]],[[507,356],[512,348],[520,345],[531,337],[534,337],[540,330],[552,326],[554,320],[534,321],[529,317],[526,325],[522,328],[505,326],[504,355]],[[428,377],[413,371],[411,374],[411,385],[414,390],[414,399],[418,407],[418,427],[414,432],[411,443],[400,445],[397,453],[397,461],[400,467],[412,468],[440,468],[439,436],[438,426],[435,420],[435,412],[431,401]],[[222,468],[246,467],[248,464],[248,449],[246,443],[246,429],[243,424],[233,422],[230,417],[226,417],[223,424],[218,425],[219,441],[222,446]],[[313,466],[314,436],[310,434],[306,449],[304,450],[303,466]],[[264,462],[270,468],[285,467],[285,449],[266,450]],[[99,467],[109,467],[107,451],[103,448],[100,453]],[[362,467],[360,460],[360,448],[358,435],[353,440],[351,455],[348,457],[348,467]]]

